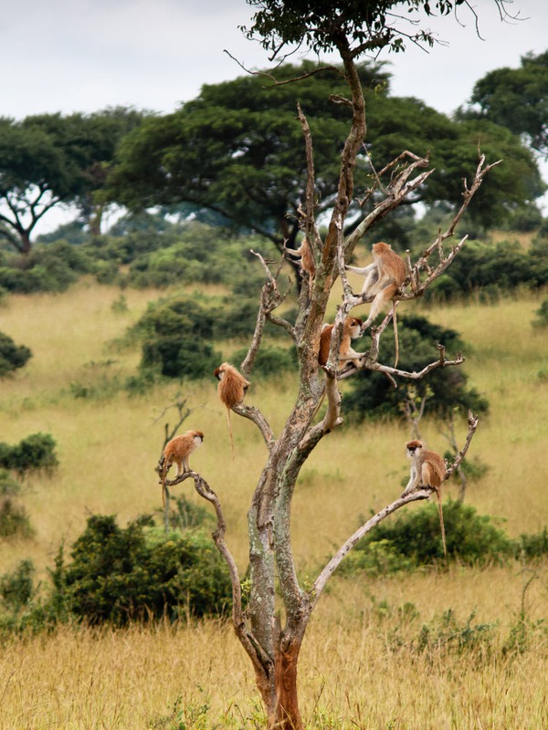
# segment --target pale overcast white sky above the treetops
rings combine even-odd
[[[513,0],[521,22],[502,23],[494,0],[470,0],[435,25],[448,47],[411,48],[390,60],[392,93],[415,96],[450,113],[492,68],[518,68],[527,52],[548,48],[548,0]],[[253,8],[245,0],[0,0],[0,116],[92,112],[132,106],[161,113],[194,99],[204,83],[244,73],[268,59],[238,25]],[[298,60],[298,58],[293,58]]]

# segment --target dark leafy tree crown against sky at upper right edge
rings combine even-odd
[[[528,53],[520,68],[496,68],[480,78],[459,115],[523,134],[533,150],[548,157],[548,51]]]

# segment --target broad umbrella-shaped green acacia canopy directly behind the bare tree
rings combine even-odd
[[[312,76],[315,68],[311,62],[282,65],[276,76],[304,76],[297,98],[310,120],[320,215],[331,209],[336,193],[332,151],[342,149],[347,107],[330,100],[344,94],[341,69]],[[496,153],[505,162],[482,187],[481,202],[472,211],[483,224],[543,193],[531,151],[508,130],[486,120],[456,122],[417,99],[391,98],[382,67],[363,64],[356,70],[369,112],[367,154],[359,151],[355,162],[362,187],[373,179],[372,163],[382,170],[402,150],[426,155],[436,140],[432,162],[441,172],[415,191],[410,203],[459,204],[460,182],[475,164],[478,143],[488,156]],[[136,210],[184,202],[198,215],[214,211],[279,246],[295,247],[307,164],[295,102],[291,84],[277,86],[260,76],[203,87],[180,110],[146,120],[124,138],[110,178],[113,199]],[[371,212],[373,202],[353,201],[353,225]]]

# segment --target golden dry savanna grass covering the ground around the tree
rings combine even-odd
[[[126,289],[121,295],[117,287],[82,279],[64,294],[5,300],[0,329],[33,357],[1,382],[0,440],[51,433],[59,466],[52,474],[26,477],[21,498],[35,535],[0,542],[0,573],[29,558],[47,581],[60,543],[69,546],[90,515],[115,514],[121,526],[142,514],[159,516],[154,469],[164,424],[176,418],[165,409],[180,395],[195,408],[184,429],[205,433],[192,466],[221,499],[227,544],[245,573],[247,511],[265,458],[256,428],[233,415],[232,461],[226,413],[210,373],[197,384],[166,382],[141,395],[111,387],[140,360],[137,349],[116,346],[116,340],[160,294]],[[469,385],[490,401],[470,455],[490,469],[469,485],[466,501],[479,514],[497,517],[510,537],[548,525],[548,336],[531,324],[542,298],[523,293],[489,305],[425,308],[413,302],[398,309],[421,311],[457,329],[468,343]],[[236,349],[234,342],[216,345],[226,358]],[[252,381],[248,401],[279,430],[295,384]],[[83,393],[93,395],[77,397]],[[458,422],[459,445],[466,431],[466,422]],[[421,422],[421,432],[430,448],[443,453],[447,444],[437,422]],[[343,425],[312,453],[292,513],[303,579],[314,575],[360,517],[400,494],[408,438],[403,421]],[[457,496],[457,483],[444,488],[446,498]],[[188,483],[174,490],[202,501]],[[374,579],[335,576],[300,655],[303,715],[311,728],[333,730],[548,727],[547,615],[545,562],[452,564]],[[124,630],[68,624],[2,644],[0,728],[261,727],[253,683],[247,657],[229,623],[220,620]]]

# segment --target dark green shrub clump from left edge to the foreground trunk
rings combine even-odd
[[[94,515],[70,558],[60,547],[46,593],[38,592],[29,560],[1,576],[0,628],[39,630],[66,620],[122,626],[222,614],[230,607],[227,572],[200,528],[165,533],[147,516],[122,529],[114,516]]]

